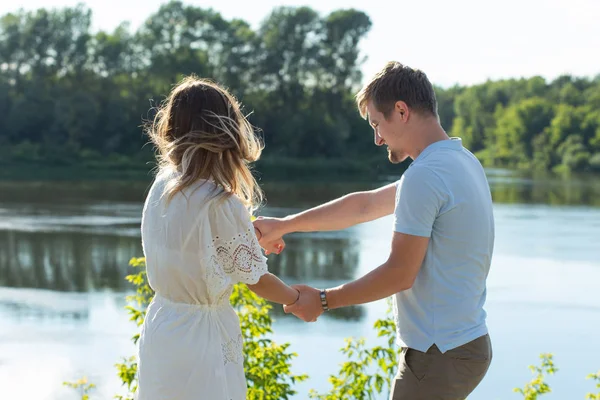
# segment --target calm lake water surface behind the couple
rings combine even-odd
[[[524,179],[489,171],[496,250],[488,324],[494,362],[471,400],[518,399],[527,366],[555,354],[548,399],[583,399],[600,369],[600,179]],[[266,183],[264,215],[286,215],[378,184]],[[97,399],[120,391],[113,365],[134,354],[136,328],[123,309],[148,182],[0,182],[0,399],[75,399],[62,387],[81,376]],[[290,235],[270,270],[289,283],[333,286],[387,258],[391,218],[341,232]],[[305,324],[275,309],[275,340],[299,354],[298,386],[326,390],[348,336],[377,343],[379,301]],[[94,397],[93,397],[94,398]]]

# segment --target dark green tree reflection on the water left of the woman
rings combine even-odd
[[[0,231],[0,286],[87,292],[129,289],[139,238],[78,232]]]

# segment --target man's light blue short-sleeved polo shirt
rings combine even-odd
[[[485,335],[494,248],[483,167],[460,138],[429,145],[397,183],[394,230],[429,237],[417,278],[395,295],[398,345],[442,353]]]

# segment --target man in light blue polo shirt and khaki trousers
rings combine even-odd
[[[315,321],[328,309],[394,295],[402,353],[391,399],[465,399],[492,359],[483,305],[494,218],[484,170],[440,125],[423,72],[388,63],[356,99],[375,144],[387,145],[392,163],[410,157],[412,164],[395,184],[255,221],[260,243],[279,253],[287,233],[344,229],[394,213],[383,265],[336,288],[298,285],[300,299],[285,311]]]

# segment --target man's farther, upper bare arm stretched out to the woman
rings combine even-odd
[[[373,221],[394,212],[396,184],[355,192],[318,207],[285,218],[259,218],[254,226],[260,231],[261,246],[277,252],[273,243],[291,232],[335,231]],[[271,248],[273,247],[273,248]]]

